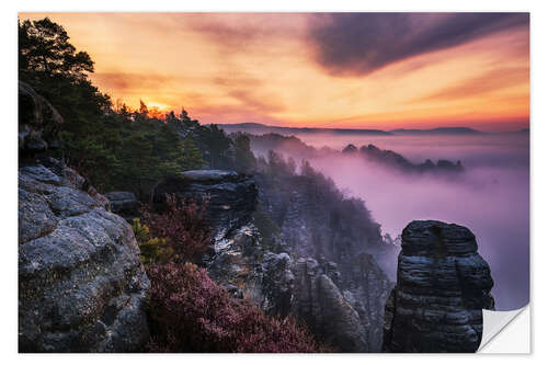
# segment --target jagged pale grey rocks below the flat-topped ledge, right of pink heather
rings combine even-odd
[[[364,301],[364,297],[374,301],[373,297],[379,292],[389,290],[390,284],[378,267],[387,288],[376,282],[378,277],[372,276],[370,281],[359,277],[343,289],[342,275],[334,262],[318,263],[312,258],[294,262],[287,252],[265,250],[261,239],[253,224],[224,238],[208,261],[209,275],[235,297],[251,299],[272,316],[292,316],[306,323],[334,351],[374,351],[370,344],[376,351],[380,350],[383,317]],[[363,272],[369,270],[370,266],[362,269]],[[384,304],[385,298],[380,296],[378,300]]]

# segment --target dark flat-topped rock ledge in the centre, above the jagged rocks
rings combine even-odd
[[[153,193],[153,202],[162,205],[165,194],[207,201],[207,218],[217,239],[246,225],[256,204],[256,187],[251,176],[233,171],[185,171],[179,178],[160,183]]]

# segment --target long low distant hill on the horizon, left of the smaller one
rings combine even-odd
[[[336,134],[336,135],[375,135],[375,136],[390,136],[390,132],[380,129],[344,129],[344,128],[308,128],[308,127],[278,127],[264,125],[260,123],[239,123],[239,124],[218,124],[219,128],[225,129],[227,133],[231,132],[247,132],[254,135],[277,133],[281,135],[294,134]]]

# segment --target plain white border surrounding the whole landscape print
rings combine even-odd
[[[7,3],[9,2],[9,3]],[[543,221],[546,219],[541,208],[547,205],[548,179],[544,167],[548,159],[547,123],[548,115],[546,104],[548,98],[547,90],[547,70],[548,59],[546,49],[546,37],[548,35],[548,12],[546,11],[547,1],[506,1],[506,0],[460,0],[456,1],[310,1],[298,2],[295,0],[277,0],[270,3],[258,3],[256,1],[195,1],[195,2],[174,2],[174,1],[105,1],[95,0],[93,2],[76,2],[73,0],[64,1],[4,1],[2,2],[2,46],[4,52],[0,61],[2,67],[1,100],[5,107],[2,121],[1,136],[1,158],[2,158],[2,179],[1,184],[1,227],[2,227],[2,280],[3,289],[0,313],[2,315],[2,337],[1,349],[3,361],[8,364],[11,361],[23,363],[55,363],[55,364],[81,364],[101,363],[176,363],[193,364],[204,362],[215,363],[235,363],[235,364],[254,364],[266,363],[275,364],[279,361],[301,363],[311,361],[315,363],[356,362],[369,363],[374,361],[383,364],[400,364],[402,362],[411,364],[423,364],[424,362],[455,363],[493,361],[498,364],[514,364],[534,357],[539,360],[546,356],[546,339],[540,331],[543,326],[548,323],[546,320],[546,290],[537,290],[535,278],[540,286],[544,286],[543,277],[546,277],[546,263],[548,260],[546,230]],[[536,326],[533,326],[533,356],[503,356],[503,355],[18,355],[16,354],[16,13],[28,11],[530,11],[532,12],[532,267],[535,274],[532,275],[532,307]],[[538,308],[535,310],[535,308]],[[539,339],[539,341],[535,341]],[[536,346],[538,344],[538,346]],[[466,358],[465,358],[466,357]],[[546,363],[546,358],[545,358]]]

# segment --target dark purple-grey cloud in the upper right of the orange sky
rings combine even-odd
[[[329,73],[358,76],[528,24],[528,13],[317,14],[310,21],[309,42],[316,61]]]

